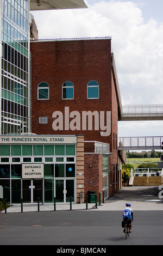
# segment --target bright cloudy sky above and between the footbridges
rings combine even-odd
[[[111,36],[122,105],[162,104],[163,1],[85,0],[88,9],[32,11],[39,39]],[[119,122],[118,136],[163,136],[163,121]]]

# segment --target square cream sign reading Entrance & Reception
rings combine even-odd
[[[22,179],[44,178],[43,163],[22,163]]]

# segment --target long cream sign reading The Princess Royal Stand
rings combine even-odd
[[[77,144],[77,136],[4,135],[0,136],[0,144]]]

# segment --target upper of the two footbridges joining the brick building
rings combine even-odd
[[[120,121],[163,120],[163,105],[122,105]]]

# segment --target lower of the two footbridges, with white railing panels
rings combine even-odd
[[[119,137],[118,150],[162,150],[163,137]]]

